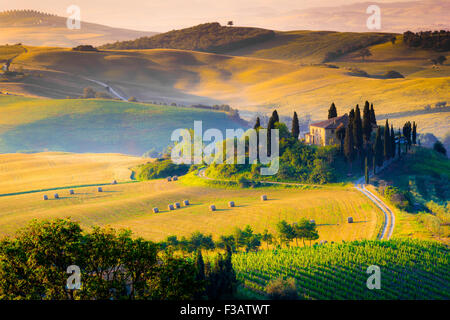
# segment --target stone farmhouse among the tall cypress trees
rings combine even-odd
[[[328,146],[339,143],[336,131],[341,127],[347,128],[348,115],[312,123],[309,126],[309,133],[305,134],[305,142],[319,146]]]

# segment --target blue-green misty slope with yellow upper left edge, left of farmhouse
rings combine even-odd
[[[162,150],[173,130],[241,127],[223,112],[112,100],[0,97],[0,152],[68,151],[142,155]]]

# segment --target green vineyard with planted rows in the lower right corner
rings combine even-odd
[[[450,299],[446,246],[419,240],[354,241],[305,248],[239,253],[238,280],[263,294],[278,277],[296,279],[304,299]],[[369,290],[366,270],[381,270],[381,289]]]

